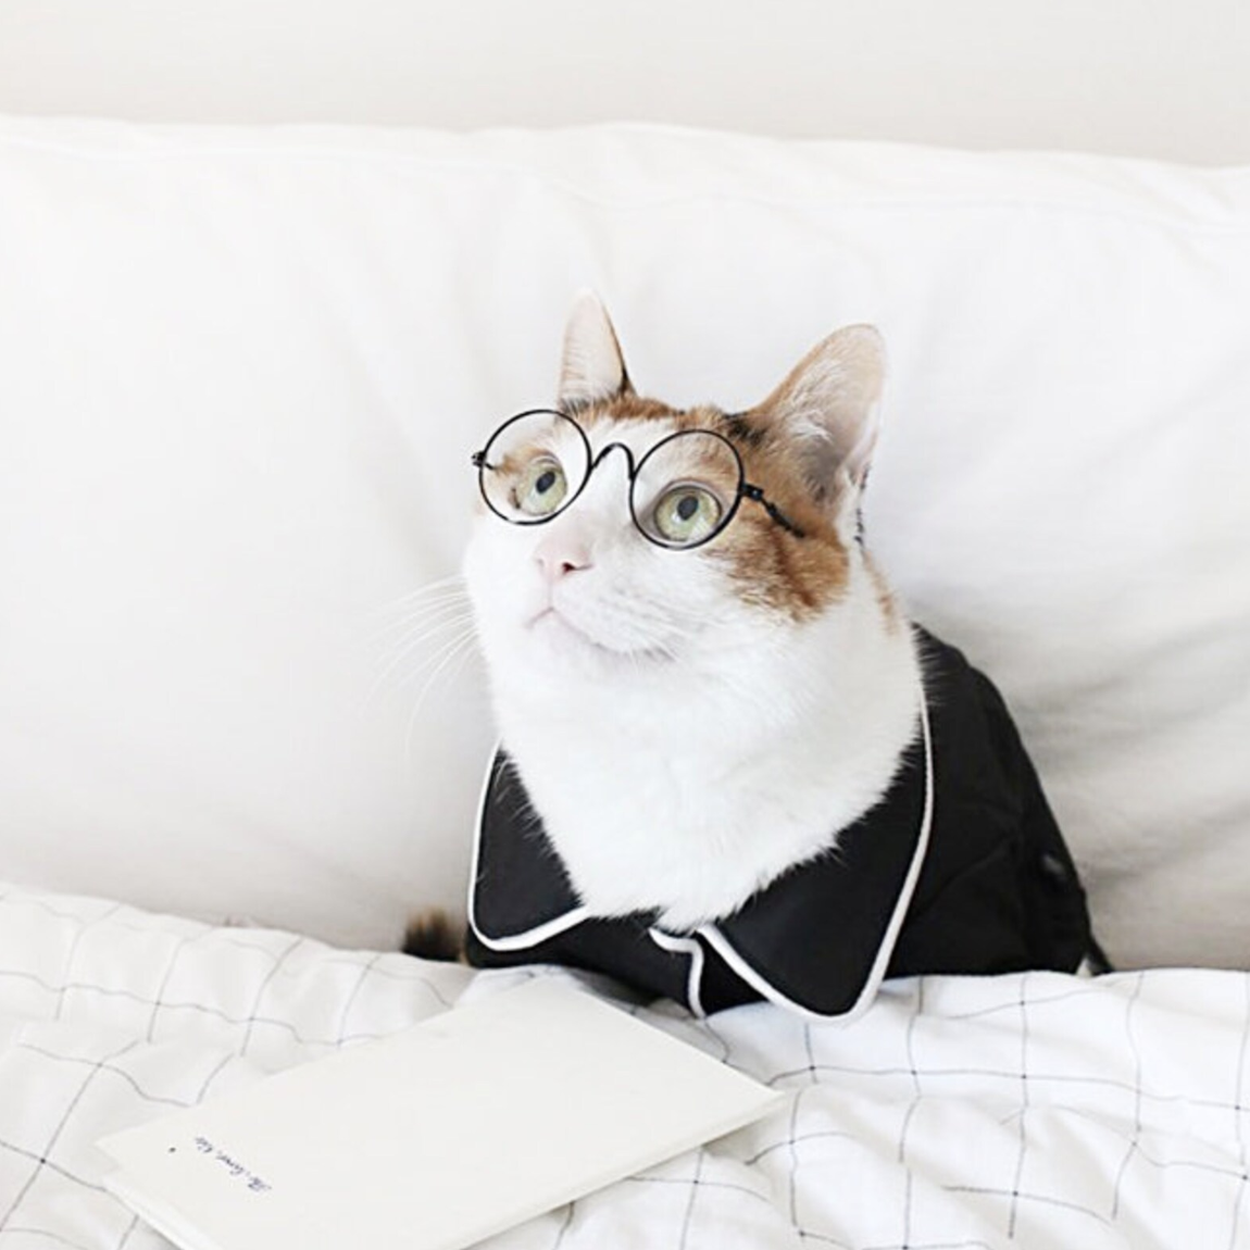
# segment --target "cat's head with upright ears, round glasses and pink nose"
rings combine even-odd
[[[555,410],[480,456],[465,575],[496,681],[714,671],[726,649],[836,608],[862,568],[882,374],[880,334],[848,326],[752,409],[675,409],[634,391],[582,296]]]

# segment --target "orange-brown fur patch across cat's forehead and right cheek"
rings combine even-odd
[[[712,405],[675,409],[632,392],[588,404],[575,415],[588,429],[601,421],[666,421],[675,430],[714,430],[728,438],[742,459],[746,481],[759,486],[802,536],[744,498],[734,520],[711,542],[672,558],[720,562],[746,602],[795,621],[819,615],[841,598],[850,556],[834,514],[812,496],[799,455],[775,430],[752,421],[750,414],[726,415]]]

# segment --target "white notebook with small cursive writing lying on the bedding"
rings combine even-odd
[[[780,1101],[539,979],[100,1146],[184,1250],[459,1250]]]

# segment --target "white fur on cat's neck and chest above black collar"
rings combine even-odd
[[[498,700],[505,746],[591,912],[659,909],[678,930],[726,915],[880,799],[916,725],[910,632],[876,620],[842,651],[854,662],[830,662],[848,621],[822,624],[715,672],[661,666],[546,706]]]

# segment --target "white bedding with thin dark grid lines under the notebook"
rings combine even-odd
[[[98,1138],[530,975],[0,888],[0,1245],[165,1245]],[[929,978],[844,1028],[640,1014],[785,1109],[491,1246],[1250,1245],[1246,974]]]

